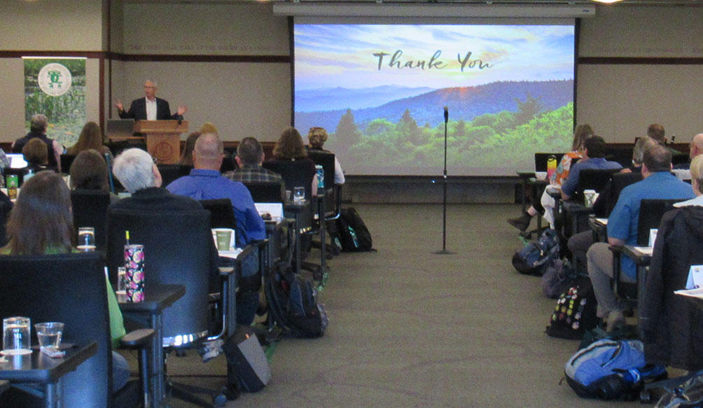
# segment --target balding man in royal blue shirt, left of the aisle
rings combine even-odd
[[[230,199],[237,219],[237,246],[243,248],[252,240],[265,239],[266,227],[247,187],[221,176],[223,157],[224,147],[219,136],[215,133],[201,135],[195,142],[191,174],[174,180],[166,188],[197,200]]]

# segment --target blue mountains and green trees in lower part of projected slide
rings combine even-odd
[[[315,92],[296,93],[296,101]],[[409,89],[384,87],[374,99],[368,98],[373,90],[337,88],[336,102],[325,104],[332,109],[302,112],[296,105],[295,126],[302,133],[312,126],[327,129],[325,147],[343,158],[348,172],[359,174],[437,173],[444,158],[445,106],[448,166],[454,173],[482,174],[490,168],[496,175],[510,175],[516,168],[531,169],[532,156],[526,152],[569,150],[572,79],[413,92],[408,96]],[[389,100],[394,95],[399,98]],[[384,99],[388,101],[381,105],[368,105]]]

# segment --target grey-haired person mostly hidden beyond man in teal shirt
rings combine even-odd
[[[635,148],[632,151],[633,165],[627,169],[622,169],[620,172],[640,173],[642,171],[642,161],[644,159],[645,151],[654,145],[657,145],[657,142],[649,137],[644,137],[637,140],[637,143],[635,143]],[[603,188],[603,191],[600,195],[598,195],[598,199],[595,200],[595,204],[593,204],[593,212],[595,213],[595,216],[607,217],[610,215],[607,211],[610,211],[615,204],[614,202],[609,202],[610,197],[612,197],[611,190],[612,183],[608,181]],[[613,198],[617,200],[617,197]],[[572,254],[574,254],[576,259],[583,263],[583,265],[586,265],[586,251],[588,251],[588,248],[590,248],[592,244],[593,232],[591,230],[574,234],[569,237],[569,241],[567,242],[569,251],[572,251]]]

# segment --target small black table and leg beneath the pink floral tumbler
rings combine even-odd
[[[154,330],[150,346],[151,367],[147,370],[150,376],[150,400],[154,408],[162,407],[165,395],[163,311],[185,294],[186,287],[182,284],[150,284],[144,288],[144,301],[120,301],[120,310],[125,318]]]

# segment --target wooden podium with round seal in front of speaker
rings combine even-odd
[[[159,164],[176,164],[181,158],[181,133],[188,131],[188,122],[177,120],[138,120],[134,132],[146,135],[146,150]]]

